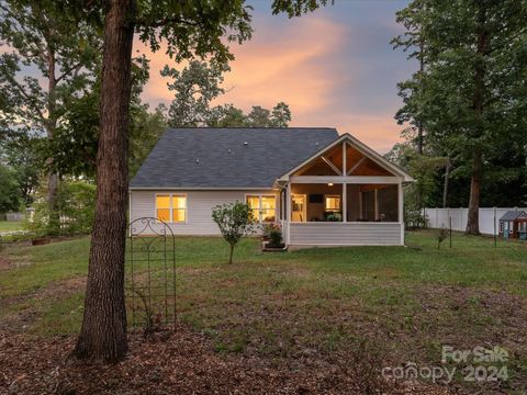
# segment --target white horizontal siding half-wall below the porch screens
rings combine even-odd
[[[399,223],[289,224],[291,246],[400,246]]]

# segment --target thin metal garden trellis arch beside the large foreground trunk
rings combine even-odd
[[[132,326],[146,329],[176,324],[176,238],[170,226],[155,217],[128,225],[126,307]]]

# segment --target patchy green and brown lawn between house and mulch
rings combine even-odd
[[[505,388],[525,386],[527,244],[494,248],[490,238],[456,234],[452,248],[447,240],[438,250],[431,232],[406,240],[410,248],[261,253],[247,239],[229,266],[220,238],[177,238],[178,318],[218,352],[277,363],[366,343],[386,364],[440,365],[442,345],[500,346],[512,356]],[[31,316],[30,336],[76,332],[88,250],[88,238],[9,246],[1,253],[19,268],[0,270],[0,323]]]

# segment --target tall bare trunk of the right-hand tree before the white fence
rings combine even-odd
[[[469,217],[467,221],[467,235],[480,234],[480,191],[483,178],[482,150],[479,146],[479,139],[484,133],[483,124],[483,105],[485,99],[485,63],[484,58],[489,55],[487,42],[489,32],[485,26],[486,9],[483,2],[479,3],[478,10],[478,42],[476,42],[476,59],[474,67],[474,94],[472,99],[472,108],[474,112],[474,136],[476,147],[472,151],[472,174],[470,181],[470,199],[469,199]]]

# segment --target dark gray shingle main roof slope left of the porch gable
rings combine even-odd
[[[335,128],[169,128],[131,188],[270,188],[338,138]]]

